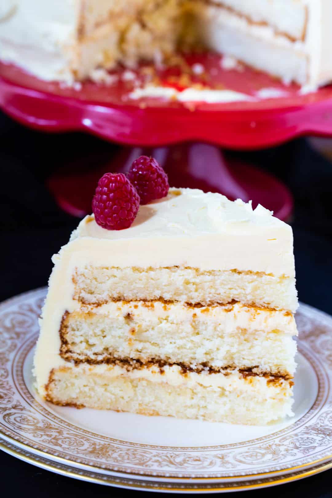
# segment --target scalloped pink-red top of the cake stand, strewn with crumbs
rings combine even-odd
[[[223,69],[221,59],[213,53],[187,56],[190,84],[235,91],[244,94],[246,101],[133,99],[135,84],[145,85],[152,77],[152,67],[145,72],[139,69],[133,76],[131,71],[118,70],[111,75],[111,86],[88,81],[65,88],[0,63],[0,108],[20,123],[43,131],[84,130],[139,146],[201,140],[255,149],[304,134],[332,135],[331,85],[304,92],[249,68]],[[181,71],[183,64],[161,69],[153,74],[153,80],[168,91],[182,92]]]

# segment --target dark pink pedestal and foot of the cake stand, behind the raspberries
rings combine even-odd
[[[293,200],[279,180],[241,161],[227,158],[220,148],[205,143],[187,143],[156,148],[122,148],[113,158],[86,157],[78,167],[67,166],[48,179],[48,188],[67,213],[83,217],[91,213],[91,201],[99,178],[106,172],[126,172],[134,159],[145,154],[155,157],[174,187],[219,192],[228,199],[252,200],[262,204],[281,220],[288,220]],[[93,164],[93,166],[92,166]]]

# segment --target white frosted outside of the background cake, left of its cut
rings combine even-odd
[[[44,80],[71,81],[79,7],[79,0],[1,0],[0,59]]]

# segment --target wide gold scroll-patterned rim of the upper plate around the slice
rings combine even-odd
[[[34,399],[25,384],[23,367],[36,340],[37,319],[45,293],[45,288],[36,289],[0,305],[0,435],[22,451],[32,451],[60,464],[103,475],[173,481],[271,477],[281,472],[299,472],[299,469],[332,458],[332,354],[329,353],[332,351],[332,317],[329,315],[303,304],[297,315],[299,346],[302,355],[310,361],[319,385],[316,400],[299,420],[283,430],[245,443],[205,447],[157,446],[113,439],[82,429],[59,418]],[[34,420],[35,415],[39,419],[31,427],[29,421]],[[28,435],[36,427],[39,430],[37,440],[32,441]],[[60,428],[62,434],[57,439],[54,434],[59,433]],[[77,439],[78,431],[81,440]],[[51,433],[53,446],[50,443],[52,438],[48,438]],[[47,438],[50,441],[46,444]],[[81,450],[76,450],[74,456],[70,455],[68,445],[73,441],[82,445],[82,440],[90,441],[83,456]],[[89,444],[92,445],[90,448]],[[243,453],[241,461],[241,455],[236,458],[236,450],[245,446],[248,447],[247,454]],[[105,459],[106,449],[108,460]],[[287,460],[286,456],[292,460]],[[153,468],[155,462],[163,458],[166,458],[167,465]],[[257,467],[257,462],[260,467]]]

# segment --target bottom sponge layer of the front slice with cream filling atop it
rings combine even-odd
[[[46,399],[58,404],[264,425],[292,415],[292,382],[238,372],[181,373],[179,367],[128,372],[98,365],[55,370]]]

